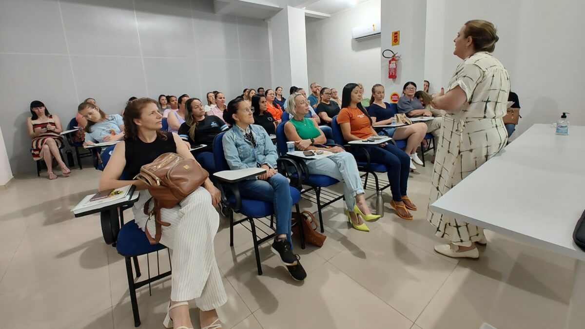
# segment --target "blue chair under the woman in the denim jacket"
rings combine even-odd
[[[225,155],[223,154],[223,134],[225,132],[219,133],[219,135],[215,136],[213,150],[214,150],[214,157],[215,157],[215,167],[218,172],[222,172],[224,170],[230,170],[228,166],[228,162],[225,159]],[[292,165],[296,166],[296,163],[290,159],[278,159],[278,167],[285,166],[285,165]],[[299,170],[300,171],[300,170]],[[258,251],[258,246],[265,242],[269,241],[270,239],[274,238],[276,233],[267,234],[266,237],[259,239],[256,234],[256,223],[254,222],[257,218],[263,217],[271,217],[271,225],[272,228],[272,219],[274,215],[274,206],[270,202],[254,200],[251,198],[246,198],[245,196],[241,196],[237,183],[240,180],[232,180],[226,181],[221,179],[221,177],[216,176],[217,184],[219,191],[221,191],[221,198],[222,203],[228,207],[230,210],[229,212],[229,245],[233,246],[233,227],[236,224],[240,224],[242,222],[250,222],[250,232],[252,232],[252,240],[254,242],[254,254],[256,255],[256,266],[258,268],[258,275],[262,275],[262,266],[260,264],[260,253]],[[295,187],[290,187],[291,190],[291,197],[292,202],[295,204],[295,208],[297,213],[301,213],[300,208],[298,207],[298,201],[301,200],[301,193]],[[242,220],[234,221],[233,220],[233,213],[242,214],[245,218]],[[295,225],[300,225],[300,240],[301,240],[301,248],[305,249],[305,239],[302,230],[302,225],[300,222],[297,222]]]

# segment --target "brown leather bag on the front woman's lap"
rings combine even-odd
[[[161,220],[160,208],[173,208],[197,190],[208,177],[209,173],[197,161],[185,159],[177,153],[164,153],[152,163],[140,167],[140,173],[134,178],[146,183],[152,196],[144,203],[143,211],[144,214],[149,215],[148,220],[154,215],[156,222],[154,238],[150,235],[147,225],[144,227],[144,233],[150,244],[158,244],[162,235],[161,228],[171,225]],[[153,199],[154,208],[149,211],[150,201]]]

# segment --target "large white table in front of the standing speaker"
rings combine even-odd
[[[534,125],[430,205],[431,210],[577,260],[567,328],[585,328],[585,126]]]

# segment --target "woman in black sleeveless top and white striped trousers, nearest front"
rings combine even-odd
[[[125,140],[113,149],[112,157],[99,179],[99,190],[116,189],[129,184],[140,190],[140,198],[132,210],[136,224],[154,232],[154,221],[144,215],[143,207],[150,198],[146,184],[132,180],[140,167],[153,162],[167,152],[193,159],[187,145],[176,133],[161,132],[163,116],[156,101],[139,98],[128,102],[124,111]],[[122,172],[126,178],[122,178]],[[171,301],[164,324],[173,321],[175,328],[192,328],[189,304],[194,300],[199,308],[201,327],[219,325],[216,307],[226,303],[228,297],[222,283],[214,253],[214,237],[219,227],[215,210],[220,200],[219,191],[207,179],[205,183],[173,208],[161,209],[163,227],[160,243],[173,249],[173,285]],[[171,320],[169,320],[171,319]]]

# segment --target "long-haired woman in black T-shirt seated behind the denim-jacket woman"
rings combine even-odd
[[[215,172],[213,155],[214,138],[218,133],[229,129],[222,119],[215,115],[205,115],[205,107],[199,98],[190,98],[185,103],[185,122],[180,126],[178,135],[192,146],[205,144],[193,150],[195,160],[210,174]]]

